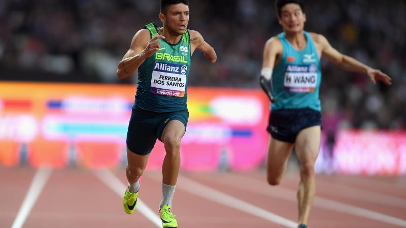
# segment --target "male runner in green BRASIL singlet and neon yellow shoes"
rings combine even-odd
[[[162,27],[147,24],[134,35],[130,49],[117,69],[120,79],[137,69],[139,77],[127,132],[126,175],[129,184],[123,205],[126,213],[134,212],[140,177],[156,139],[159,139],[166,151],[159,212],[163,227],[177,227],[171,205],[180,167],[181,138],[189,118],[186,84],[190,57],[198,49],[214,63],[217,55],[199,32],[187,29],[187,0],[161,0],[159,19]]]

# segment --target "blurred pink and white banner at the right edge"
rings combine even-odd
[[[405,175],[406,132],[341,131],[334,146],[334,163],[342,174]]]

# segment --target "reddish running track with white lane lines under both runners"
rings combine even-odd
[[[406,227],[406,177],[317,176],[309,224]],[[271,187],[262,171],[181,172],[179,227],[295,227],[296,172]],[[0,167],[0,227],[160,227],[161,174],[146,171],[137,211],[122,209],[124,169]]]

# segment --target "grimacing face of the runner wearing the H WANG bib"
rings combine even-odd
[[[279,24],[285,32],[299,32],[303,30],[306,14],[301,11],[298,4],[289,3],[281,9]]]

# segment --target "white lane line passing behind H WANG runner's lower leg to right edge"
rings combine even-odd
[[[245,176],[241,176],[241,175],[235,175],[238,176],[239,178],[239,183],[244,182],[245,186],[261,186],[261,184],[263,185],[264,183],[262,181],[259,181],[257,179],[253,179],[250,177],[245,177]],[[230,184],[230,183],[227,183]],[[240,185],[235,185],[234,187],[240,187]],[[271,188],[270,186],[268,186],[268,189]],[[256,188],[244,188],[247,191],[251,191],[254,193],[260,193],[263,195],[267,195],[267,196],[274,196],[274,197],[278,197],[281,199],[285,199],[285,200],[289,200],[289,201],[295,201],[296,202],[296,191],[293,191],[289,188],[286,187],[282,187],[282,186],[277,186],[275,187],[275,189],[277,189],[277,191],[264,191],[264,187],[256,187]],[[262,189],[262,190],[259,190]],[[352,206],[352,205],[348,205],[348,204],[344,204],[341,202],[337,202],[337,201],[333,201],[333,200],[329,200],[326,198],[322,198],[322,197],[318,197],[316,196],[314,198],[313,201],[313,205],[317,206],[317,207],[322,207],[322,208],[326,208],[326,209],[330,209],[333,211],[338,211],[341,213],[347,213],[347,214],[351,214],[351,215],[357,215],[360,217],[365,217],[365,218],[369,218],[369,219],[373,219],[373,220],[377,220],[380,222],[386,222],[389,224],[393,224],[393,225],[399,225],[402,227],[406,227],[406,222],[400,218],[396,218],[396,217],[392,217],[389,215],[385,215],[379,212],[375,212],[375,211],[371,211],[371,210],[367,210],[361,207],[356,207],[356,206]]]

